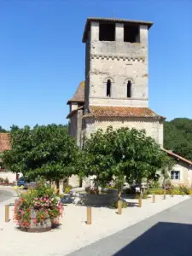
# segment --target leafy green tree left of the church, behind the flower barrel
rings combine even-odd
[[[73,137],[68,137],[63,125],[36,125],[33,129],[10,131],[11,149],[3,154],[3,162],[12,172],[24,176],[45,177],[56,183],[75,173],[79,148]]]

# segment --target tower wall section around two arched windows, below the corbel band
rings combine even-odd
[[[111,97],[106,95],[111,80]],[[131,81],[131,99],[127,83]],[[90,61],[90,105],[148,107],[148,69],[143,61],[93,58]]]

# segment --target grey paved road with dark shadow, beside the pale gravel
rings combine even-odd
[[[189,199],[69,255],[188,256],[192,255],[191,238],[192,199]]]

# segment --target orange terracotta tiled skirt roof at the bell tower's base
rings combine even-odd
[[[90,113],[95,117],[148,117],[165,119],[154,113],[150,108],[90,106]]]

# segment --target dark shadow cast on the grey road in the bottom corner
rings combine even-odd
[[[192,224],[159,222],[123,247],[114,256],[187,256],[192,255]]]

